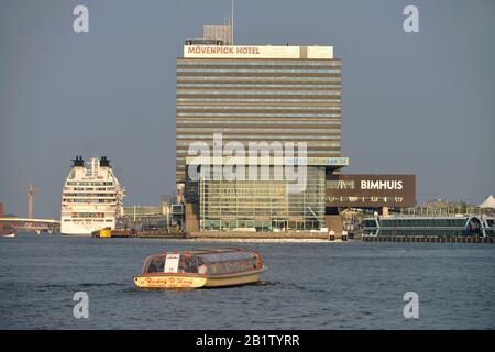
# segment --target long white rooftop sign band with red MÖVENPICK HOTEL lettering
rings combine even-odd
[[[333,46],[184,45],[185,58],[333,58]]]

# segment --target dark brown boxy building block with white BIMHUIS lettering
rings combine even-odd
[[[336,174],[327,179],[327,207],[395,207],[416,205],[415,175]]]

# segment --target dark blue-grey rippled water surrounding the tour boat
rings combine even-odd
[[[257,285],[189,292],[134,287],[164,249],[248,246]],[[76,292],[89,319],[76,319]],[[419,295],[419,319],[403,296]],[[20,234],[0,239],[0,329],[495,328],[495,246],[447,243],[220,243]]]

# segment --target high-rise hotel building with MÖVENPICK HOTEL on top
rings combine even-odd
[[[326,179],[349,163],[341,157],[341,61],[332,46],[186,42],[176,108],[176,182],[189,231],[326,227]],[[306,142],[305,190],[292,193],[288,180],[272,177],[190,180],[190,144],[212,148],[219,133],[223,145],[235,141],[246,150],[250,142]]]

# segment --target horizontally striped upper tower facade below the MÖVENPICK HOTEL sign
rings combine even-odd
[[[340,156],[341,62],[178,58],[176,180],[189,144],[305,141],[308,157]]]

